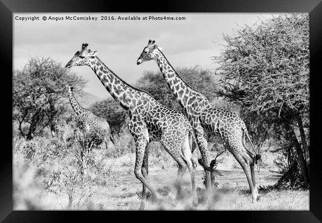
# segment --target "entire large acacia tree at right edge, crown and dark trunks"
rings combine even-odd
[[[221,75],[216,93],[239,105],[248,122],[264,120],[284,138],[309,186],[309,15],[280,15],[236,32],[223,35],[226,44],[213,57]]]

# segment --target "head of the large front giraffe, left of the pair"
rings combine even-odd
[[[96,56],[98,51],[92,52],[91,50],[87,50],[87,46],[87,43],[82,44],[81,51],[77,51],[65,67],[89,65],[90,59]]]

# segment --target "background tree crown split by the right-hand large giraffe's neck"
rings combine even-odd
[[[213,98],[215,81],[209,69],[203,69],[197,65],[189,68],[176,68],[176,71],[192,88],[204,93],[210,100]],[[136,87],[149,92],[161,104],[182,111],[160,71],[145,71],[136,82]]]

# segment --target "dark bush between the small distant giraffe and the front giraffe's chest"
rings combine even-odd
[[[126,111],[112,98],[95,103],[90,110],[95,115],[107,120],[113,138],[115,135],[119,136],[127,127],[128,115]]]

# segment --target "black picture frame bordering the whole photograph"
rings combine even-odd
[[[319,74],[321,75],[322,52],[322,2],[321,0],[162,0],[162,1],[102,1],[102,0],[0,0],[0,58],[2,68],[1,113],[2,148],[0,161],[0,220],[8,223],[37,222],[83,222],[90,220],[121,221],[125,218],[138,221],[168,221],[172,217],[162,211],[129,212],[122,211],[12,211],[12,150],[11,133],[8,129],[12,121],[10,105],[10,86],[13,69],[13,15],[15,12],[310,12],[310,211],[216,211],[216,212],[172,212],[197,221],[229,222],[274,222],[274,223],[316,223],[322,221],[321,166],[318,147],[320,118],[318,115],[321,93],[318,92]],[[4,70],[3,70],[4,68]],[[12,92],[12,88],[11,88]],[[320,96],[320,97],[318,97]],[[11,98],[12,101],[12,98]],[[8,118],[6,118],[8,117]],[[318,121],[319,120],[319,121]],[[321,138],[321,136],[320,136]],[[8,146],[6,146],[9,144]],[[12,147],[12,141],[11,141]],[[148,215],[147,215],[148,214]],[[116,219],[115,219],[116,218]],[[114,220],[112,220],[114,219]],[[199,219],[199,220],[198,220]],[[319,221],[320,220],[320,221]],[[100,222],[101,222],[100,221]],[[182,221],[182,220],[181,220]],[[235,220],[236,221],[236,220]]]

